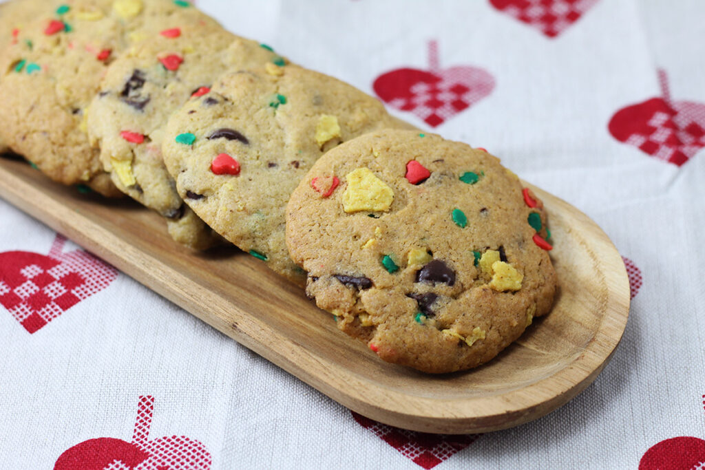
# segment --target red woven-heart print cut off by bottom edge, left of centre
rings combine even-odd
[[[131,443],[115,438],[85,440],[59,456],[54,470],[209,470],[212,457],[197,440],[173,435],[149,440],[154,397],[141,396]]]

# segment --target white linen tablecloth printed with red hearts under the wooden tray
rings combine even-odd
[[[87,287],[78,304],[59,307],[49,323],[30,322],[34,333],[18,322],[21,313],[0,304],[0,469],[59,468],[63,452],[97,438],[112,438],[108,447],[116,455],[132,452],[140,469],[635,469],[656,445],[642,468],[657,468],[659,458],[674,465],[669,468],[705,462],[702,1],[198,4],[233,32],[270,44],[295,63],[380,92],[393,106],[415,106],[415,112],[390,109],[429,131],[489,149],[522,178],[588,214],[630,260],[635,297],[622,343],[594,384],[556,412],[507,431],[434,443],[355,419],[103,266],[102,281]],[[558,19],[529,24],[517,18],[545,13],[540,4],[554,8]],[[560,18],[574,19],[570,8],[581,16],[568,24]],[[448,72],[451,67],[462,68]],[[430,118],[434,127],[418,117],[430,116],[419,94],[447,101],[453,91],[417,84],[415,101],[391,97],[404,90],[373,87],[401,68],[484,88],[461,89],[465,104],[458,107],[470,106],[452,116],[446,109],[442,123]],[[648,109],[632,109],[629,119],[615,117],[619,122],[609,126],[618,111],[651,99]],[[0,199],[0,253],[46,255],[53,247],[47,266],[66,264],[67,253],[80,248],[61,242]],[[73,259],[86,269],[92,261],[81,253]],[[16,259],[0,254],[0,272],[16,267]],[[0,283],[0,294],[4,289]],[[379,437],[385,433],[393,445]],[[689,439],[658,444],[680,436]],[[424,443],[436,460],[420,455]],[[198,463],[176,466],[179,458]],[[71,468],[66,462],[63,468]],[[73,468],[88,467],[74,462]]]

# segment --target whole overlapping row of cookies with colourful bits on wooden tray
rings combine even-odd
[[[381,359],[468,369],[551,308],[546,214],[486,151],[187,1],[16,0],[0,23],[8,147],[128,194],[177,242],[262,259]]]

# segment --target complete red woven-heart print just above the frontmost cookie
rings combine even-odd
[[[429,70],[399,68],[379,75],[372,88],[389,106],[411,111],[431,127],[470,108],[494,89],[482,68],[455,66],[441,70],[438,44],[429,42]]]

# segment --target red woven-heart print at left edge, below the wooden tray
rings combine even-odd
[[[103,290],[118,271],[82,250],[62,253],[66,238],[56,235],[49,256],[0,253],[0,304],[29,333],[78,302]]]

